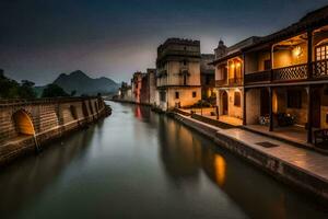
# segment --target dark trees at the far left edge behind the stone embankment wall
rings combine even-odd
[[[0,97],[1,99],[35,99],[34,82],[23,80],[22,83],[9,79],[0,69]]]

